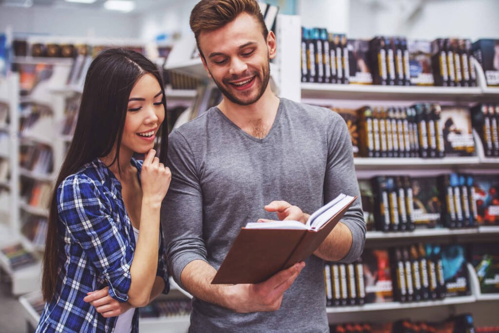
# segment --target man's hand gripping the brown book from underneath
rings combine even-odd
[[[284,292],[291,287],[303,267],[305,263],[302,261],[274,274],[264,282],[228,287],[229,308],[239,313],[279,310]]]

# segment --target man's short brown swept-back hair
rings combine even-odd
[[[191,11],[189,24],[196,37],[199,53],[199,35],[203,31],[217,30],[234,20],[242,12],[253,16],[261,27],[263,38],[267,38],[268,29],[263,20],[260,6],[256,0],[201,0]]]

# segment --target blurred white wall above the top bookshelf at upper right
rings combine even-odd
[[[302,25],[353,38],[499,38],[499,0],[299,0]]]

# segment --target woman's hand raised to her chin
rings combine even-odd
[[[161,201],[170,187],[172,173],[170,168],[159,162],[155,157],[156,151],[151,149],[147,153],[144,163],[142,164],[142,171],[140,174],[140,181],[142,185],[143,199],[151,200],[151,203],[161,205]]]

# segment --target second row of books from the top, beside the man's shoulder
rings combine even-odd
[[[360,109],[328,107],[347,123],[355,157],[442,158],[476,154],[471,113],[478,112],[481,105],[471,110],[438,103]],[[499,109],[492,104],[487,109],[494,112],[492,123],[492,119],[497,119],[496,113],[499,116]],[[479,126],[478,121],[475,123]]]

